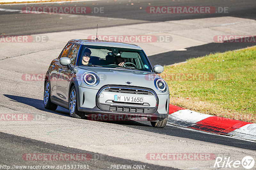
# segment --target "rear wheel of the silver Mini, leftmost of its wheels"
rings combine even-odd
[[[45,82],[44,86],[44,108],[48,110],[56,110],[58,105],[51,102],[51,85],[49,81]]]

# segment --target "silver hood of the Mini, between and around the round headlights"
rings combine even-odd
[[[126,69],[113,69],[113,68],[100,68],[100,67],[78,67],[77,80],[81,87],[100,89],[104,85],[125,85],[125,86],[139,86],[153,89],[157,94],[169,93],[167,90],[165,93],[159,92],[155,87],[154,80],[161,78],[159,75],[150,72],[144,72],[139,70],[126,70]],[[99,77],[99,84],[93,87],[88,87],[84,84],[83,74],[87,72],[93,72]],[[128,84],[127,82],[130,82]]]

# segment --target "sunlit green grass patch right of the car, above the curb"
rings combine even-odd
[[[188,74],[197,73],[205,74],[206,78],[209,76],[208,80],[186,80],[190,78]],[[181,77],[182,74],[187,76],[175,79],[180,74]],[[170,89],[171,104],[256,122],[256,47],[210,54],[187,60],[187,63],[165,66],[162,76]],[[204,107],[195,107],[202,102]]]

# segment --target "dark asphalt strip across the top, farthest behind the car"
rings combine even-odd
[[[140,3],[139,3],[140,2]],[[133,5],[131,5],[133,3]],[[93,4],[93,5],[92,5]],[[127,5],[128,4],[128,5]],[[150,4],[150,5],[149,5]],[[104,13],[90,13],[90,14],[22,14],[17,12],[0,11],[1,16],[1,29],[0,34],[5,35],[30,35],[46,32],[60,32],[70,30],[83,30],[96,28],[99,24],[99,28],[118,25],[130,25],[137,23],[148,22],[161,22],[181,19],[195,19],[195,18],[211,18],[211,17],[240,17],[256,19],[256,3],[254,0],[183,0],[183,1],[169,1],[169,0],[103,0],[92,2],[78,2],[78,3],[66,3],[66,4],[41,4],[44,6],[88,6],[92,9],[94,7],[104,8]],[[0,5],[3,9],[21,10],[23,7],[39,6],[39,4],[33,5]],[[210,14],[150,14],[146,12],[148,6],[213,6],[228,7],[228,13],[210,13]],[[142,9],[140,9],[140,7]],[[93,10],[92,10],[93,11]],[[95,19],[87,18],[86,16],[95,16]],[[62,19],[60,19],[62,17]],[[97,17],[104,17],[97,18]],[[110,18],[110,19],[109,19]],[[113,19],[116,18],[116,19]],[[114,32],[114,30],[113,30]]]

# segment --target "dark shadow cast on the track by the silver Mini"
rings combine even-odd
[[[62,115],[62,116],[68,116],[69,117],[69,111],[66,108],[63,108],[61,106],[58,106],[56,110],[47,110],[44,108],[44,101],[39,100],[39,99],[34,99],[34,98],[29,98],[29,97],[23,97],[23,96],[14,96],[14,95],[7,95],[4,94],[5,97],[8,97],[10,101],[13,102],[18,102],[18,103],[23,103],[27,104],[29,106],[32,106],[38,110],[42,111],[47,111],[50,113]],[[89,118],[85,118],[87,120],[90,120]],[[97,120],[91,120],[91,121],[97,121]],[[106,123],[111,123],[111,124],[120,124],[120,125],[135,125],[135,126],[149,126],[147,124],[142,124],[134,120],[128,120],[128,121],[100,121],[100,122],[106,122]]]

